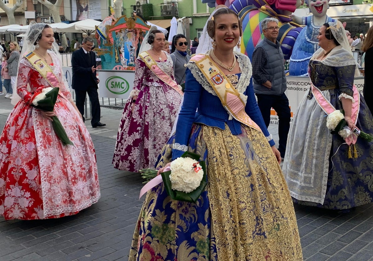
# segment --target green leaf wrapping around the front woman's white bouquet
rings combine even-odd
[[[200,155],[194,154],[194,153],[189,152],[189,151],[184,152],[184,154],[181,155],[181,157],[182,158],[189,157],[189,158],[192,158],[196,161],[198,161],[200,159]],[[200,161],[200,165],[201,165],[202,170],[203,170],[203,177],[202,177],[201,183],[198,186],[198,188],[196,188],[194,191],[189,192],[189,193],[172,189],[172,185],[171,185],[171,181],[170,181],[171,171],[161,173],[164,189],[166,189],[167,194],[172,199],[179,200],[179,201],[186,201],[186,202],[194,202],[194,203],[197,202],[198,198],[200,198],[202,192],[204,191],[204,189],[206,188],[206,185],[207,185],[207,182],[206,182],[206,180],[207,180],[207,178],[206,178],[207,177],[207,175],[206,175],[207,174],[206,164],[205,164],[204,161]]]

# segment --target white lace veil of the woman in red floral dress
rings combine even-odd
[[[35,21],[30,22],[30,25],[28,26],[28,29],[25,33],[26,37],[25,37],[25,40],[23,41],[21,56],[19,57],[19,60],[18,60],[17,75],[18,75],[19,64],[21,63],[22,57],[25,54],[28,54],[28,53],[35,50],[34,43],[37,41],[39,35],[41,34],[41,32],[43,31],[43,29],[46,25],[47,25],[46,23],[36,23]],[[52,48],[50,49],[50,51],[52,51],[54,53],[53,57],[57,57],[60,61],[60,64],[62,65],[62,57],[61,57],[61,54],[59,53],[59,46],[58,46],[58,44],[56,44],[56,42],[53,42]],[[63,75],[62,67],[61,67],[61,75]],[[67,82],[66,81],[64,81],[64,84],[66,85],[66,89],[69,89],[69,87],[67,87]],[[16,83],[16,87],[17,86],[18,86],[18,82]],[[31,88],[29,87],[29,85],[27,86],[27,90],[31,91]],[[12,96],[11,103],[13,105],[16,105],[19,100],[21,100],[21,97],[19,97],[16,90],[13,91],[13,96]]]

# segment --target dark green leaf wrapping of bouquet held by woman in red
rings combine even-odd
[[[46,98],[43,100],[38,101],[38,105],[34,106],[37,109],[43,110],[43,111],[53,111],[54,110],[54,104],[56,104],[57,96],[58,96],[59,88],[53,88],[50,91],[46,93]],[[57,116],[51,117],[53,119],[52,126],[54,133],[56,133],[57,137],[60,138],[63,145],[74,145],[68,135],[66,134],[65,129],[63,128],[60,120],[57,118]]]

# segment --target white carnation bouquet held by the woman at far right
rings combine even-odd
[[[338,133],[344,139],[352,135],[356,135],[368,142],[373,141],[372,135],[362,132],[356,128],[352,131],[348,127],[344,116],[344,110],[335,110],[332,113],[329,113],[329,115],[326,117],[326,127],[330,130],[330,133]]]

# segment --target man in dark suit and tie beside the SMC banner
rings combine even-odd
[[[82,114],[84,121],[84,102],[88,93],[91,101],[93,128],[103,127],[106,124],[100,122],[100,102],[98,101],[98,82],[96,77],[96,57],[91,51],[93,47],[93,38],[85,37],[82,48],[74,51],[71,57],[72,65],[72,88],[75,90],[75,104]]]

